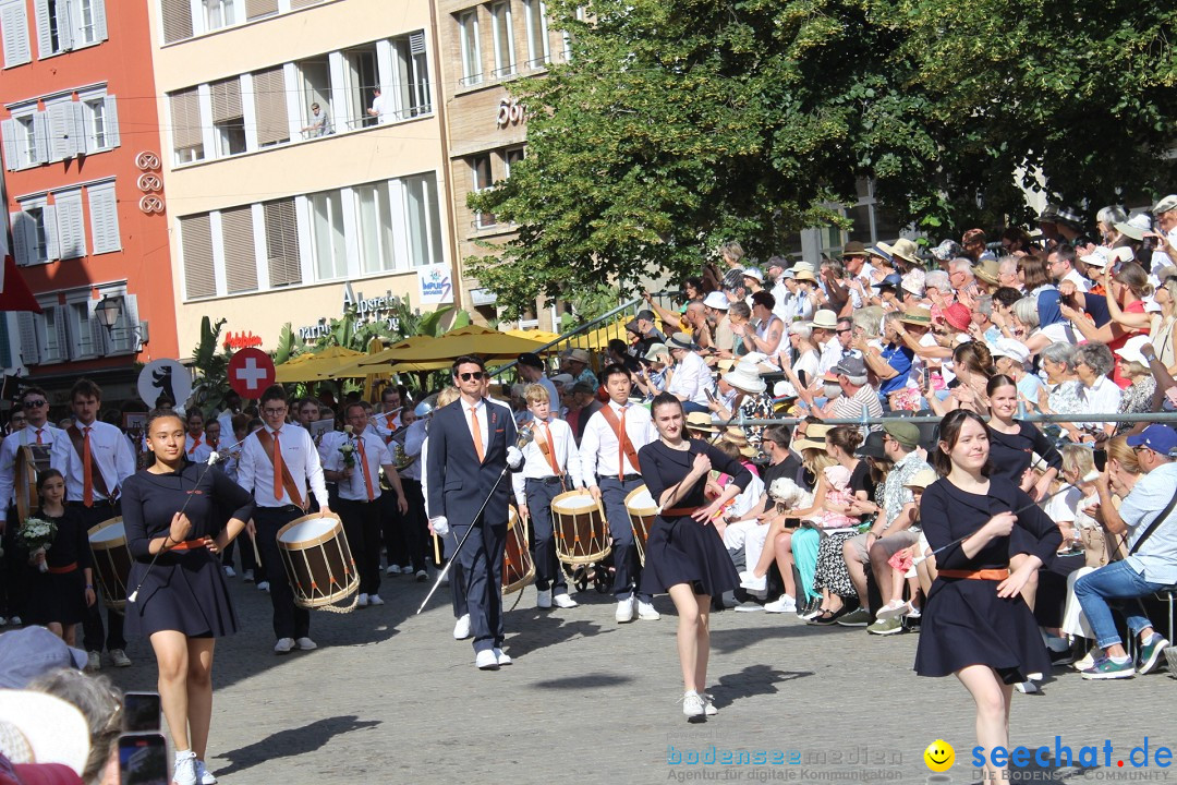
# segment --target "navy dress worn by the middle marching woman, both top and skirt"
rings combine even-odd
[[[701,439],[691,439],[691,448],[671,450],[651,441],[638,451],[641,477],[650,495],[657,503],[666,488],[672,487],[691,472],[694,457],[706,453],[711,466],[732,477],[740,491],[752,481],[752,473]],[[706,478],[700,479],[674,507],[703,507]],[[696,594],[717,597],[739,586],[739,573],[724,547],[724,541],[710,523],[704,526],[690,515],[654,518],[646,543],[646,565],[641,571],[644,594],[664,594],[676,584],[691,584]]]

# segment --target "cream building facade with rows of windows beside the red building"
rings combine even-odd
[[[345,300],[452,297],[427,0],[148,2],[181,358],[202,317],[273,348]]]

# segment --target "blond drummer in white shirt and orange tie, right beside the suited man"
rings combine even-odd
[[[552,417],[552,401],[543,385],[527,385],[524,391],[527,411],[532,414],[530,427],[534,437],[524,448],[523,470],[512,474],[519,514],[532,521],[534,537],[531,543],[536,561],[536,607],[576,607],[568,597],[568,583],[556,558],[556,538],[552,532],[552,499],[565,491],[583,488],[580,457],[572,438],[572,428],[564,420]]]

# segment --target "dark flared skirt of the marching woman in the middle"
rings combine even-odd
[[[696,594],[718,597],[739,586],[739,573],[714,526],[690,515],[658,515],[646,543],[639,591],[664,594],[676,584],[691,584]]]

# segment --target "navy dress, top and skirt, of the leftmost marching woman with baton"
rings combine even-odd
[[[132,637],[149,637],[177,630],[188,637],[230,636],[237,632],[237,614],[220,561],[208,548],[169,551],[155,559],[151,540],[172,528],[172,515],[184,508],[192,521],[189,540],[212,537],[220,528],[218,508],[230,518],[250,520],[253,497],[217,467],[186,463],[178,472],[137,472],[122,485],[122,524],[131,550],[131,591],[142,581],[134,603],[127,603],[126,630]]]

